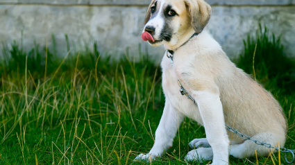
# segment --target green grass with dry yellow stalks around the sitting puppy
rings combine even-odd
[[[294,86],[294,63],[285,58],[280,40],[269,37],[266,29],[257,36],[248,37],[244,53],[235,61],[252,73],[257,43],[255,77],[283,106],[289,123],[285,147],[295,149],[295,93],[289,89]],[[140,61],[129,59],[127,53],[113,62],[100,55],[96,44],[93,51],[71,52],[64,59],[55,50],[39,49],[35,44],[26,53],[17,42],[10,48],[4,45],[0,164],[149,164],[133,159],[153,146],[162,115],[165,97],[159,62],[144,53],[139,53]],[[267,60],[267,54],[285,60],[277,64],[278,60]],[[290,67],[278,72],[271,69],[275,63],[278,68],[287,63]],[[186,164],[184,157],[191,150],[187,144],[201,137],[205,130],[185,119],[174,146],[153,164]],[[283,156],[258,157],[258,163],[283,163]],[[230,164],[251,162],[256,164],[256,158],[230,157]]]

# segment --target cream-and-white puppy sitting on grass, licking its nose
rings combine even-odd
[[[273,96],[230,61],[221,46],[207,32],[212,9],[203,0],[153,0],[146,12],[142,39],[151,46],[164,45],[162,87],[165,107],[155,143],[146,155],[135,160],[153,160],[172,146],[185,116],[205,128],[206,138],[194,139],[187,161],[212,160],[229,164],[228,157],[267,156],[271,149],[259,146],[226,130],[235,128],[252,139],[284,146],[287,122]],[[179,84],[198,106],[182,96]],[[198,146],[201,146],[198,148]]]

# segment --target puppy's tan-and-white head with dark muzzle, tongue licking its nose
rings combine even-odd
[[[211,7],[203,0],[152,0],[142,39],[152,46],[165,42],[175,45],[189,32],[201,33],[210,15]]]

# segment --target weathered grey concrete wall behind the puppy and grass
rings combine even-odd
[[[84,49],[84,41],[98,42],[102,52],[117,57],[130,48],[138,55],[142,50],[162,56],[162,47],[147,46],[141,40],[143,19],[149,0],[0,0],[0,41],[20,41],[28,51],[33,40],[41,46],[52,46],[56,35],[58,53],[67,53],[65,34],[76,50]],[[259,22],[282,35],[289,56],[295,56],[295,0],[208,0],[212,17],[206,29],[233,58],[243,49],[243,39],[254,34]],[[1,49],[1,46],[0,46]]]

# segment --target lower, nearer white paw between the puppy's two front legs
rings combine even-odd
[[[212,160],[212,159],[213,159],[212,148],[198,148],[196,150],[191,150],[185,156],[185,160],[187,160],[187,162],[192,162],[192,161],[202,162],[202,160]]]

